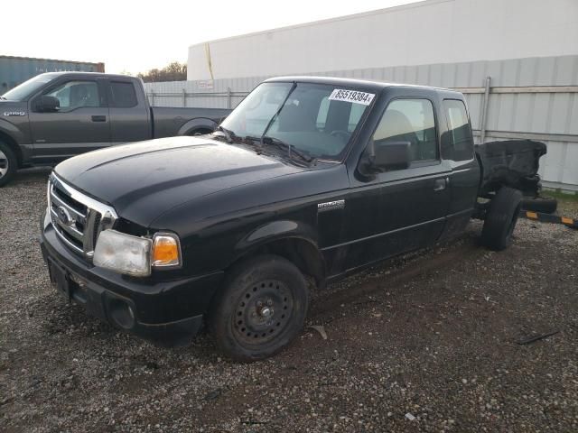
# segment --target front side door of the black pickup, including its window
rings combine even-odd
[[[407,167],[382,170],[370,179],[351,176],[346,270],[423,248],[441,235],[451,168],[440,156],[437,117],[433,100],[424,97],[397,97],[387,105],[370,142],[406,142],[411,158]]]

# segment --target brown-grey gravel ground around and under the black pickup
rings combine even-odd
[[[578,431],[578,231],[520,220],[492,253],[471,223],[315,293],[327,339],[233,364],[63,302],[37,244],[47,174],[0,189],[0,430]]]

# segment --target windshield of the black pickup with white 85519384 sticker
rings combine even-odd
[[[325,84],[264,83],[221,126],[238,137],[267,138],[312,158],[340,160],[374,97]]]

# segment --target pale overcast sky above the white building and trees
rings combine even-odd
[[[186,62],[190,45],[416,0],[1,2],[0,55],[103,61],[107,72]]]

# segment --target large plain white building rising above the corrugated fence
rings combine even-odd
[[[187,79],[572,54],[576,0],[428,0],[192,45]]]

